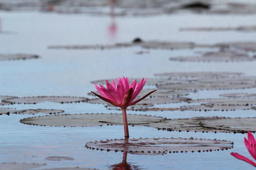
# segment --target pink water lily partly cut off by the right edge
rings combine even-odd
[[[255,138],[253,137],[253,135],[250,131],[247,132],[247,136],[248,136],[248,139],[244,138],[244,145],[246,146],[248,152],[256,160],[256,141],[255,141]],[[255,162],[253,162],[252,160],[244,157],[243,155],[240,155],[239,153],[234,153],[234,152],[232,152],[230,154],[233,155],[234,157],[236,157],[237,159],[241,159],[241,160],[251,164],[252,166],[256,167]]]

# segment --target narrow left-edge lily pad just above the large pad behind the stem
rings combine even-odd
[[[63,113],[64,110],[45,110],[45,109],[37,109],[37,110],[15,110],[13,108],[0,108],[0,115],[10,115],[10,114],[22,114],[22,115],[35,115],[37,113],[45,113],[45,114],[56,114]]]

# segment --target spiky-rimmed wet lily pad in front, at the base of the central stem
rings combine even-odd
[[[139,138],[111,139],[86,143],[86,148],[129,152],[140,155],[154,155],[178,152],[212,152],[228,150],[233,147],[232,141],[194,138]]]

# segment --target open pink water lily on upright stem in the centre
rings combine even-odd
[[[147,96],[156,91],[153,90],[152,92],[149,92],[140,99],[135,100],[135,98],[143,89],[143,86],[145,85],[146,81],[146,78],[143,78],[140,81],[140,83],[137,83],[137,80],[134,80],[130,85],[129,79],[125,77],[118,78],[117,83],[115,83],[115,80],[112,80],[112,84],[109,83],[108,80],[106,80],[106,87],[102,85],[100,85],[100,87],[98,85],[95,85],[96,89],[98,90],[101,96],[99,94],[96,94],[95,92],[92,92],[93,94],[95,94],[95,96],[99,97],[100,99],[122,109],[124,120],[124,132],[126,138],[129,138],[126,108],[128,106],[132,106],[133,104],[138,103],[139,101],[145,99]]]

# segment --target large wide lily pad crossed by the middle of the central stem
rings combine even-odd
[[[147,115],[127,115],[129,125],[147,125],[150,122],[160,122],[165,118]],[[43,117],[30,117],[20,120],[23,124],[63,126],[63,127],[92,127],[102,125],[122,125],[123,116],[117,114],[84,113],[70,115],[51,115]]]

